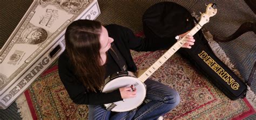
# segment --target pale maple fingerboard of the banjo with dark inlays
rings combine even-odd
[[[187,35],[193,36],[196,34],[199,29],[201,29],[200,23],[191,29],[191,31]],[[139,76],[139,80],[144,83],[144,81],[149,78],[157,69],[160,68],[176,51],[178,51],[184,44],[186,43],[185,37],[176,42],[169,50],[165,52],[153,65],[150,66],[141,76]]]

